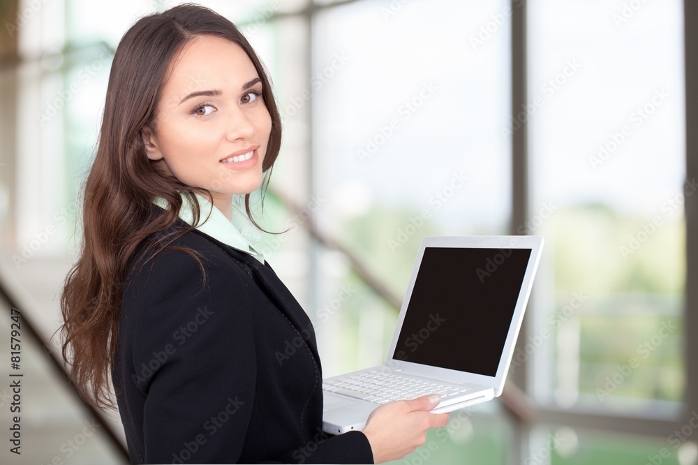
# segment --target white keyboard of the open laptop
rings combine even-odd
[[[441,402],[468,392],[462,386],[439,383],[421,378],[413,378],[385,371],[369,370],[361,373],[332,378],[322,383],[322,389],[362,399],[374,404],[415,399],[425,394],[439,394]]]

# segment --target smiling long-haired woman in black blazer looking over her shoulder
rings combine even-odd
[[[385,462],[447,421],[430,396],[322,433],[313,327],[254,249],[249,194],[280,143],[269,79],[225,18],[177,6],[121,39],[61,307],[64,358],[102,408],[112,376],[133,463]]]

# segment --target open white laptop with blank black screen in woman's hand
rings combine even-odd
[[[424,237],[381,367],[326,378],[322,429],[361,430],[389,401],[436,392],[445,413],[502,393],[540,236]]]

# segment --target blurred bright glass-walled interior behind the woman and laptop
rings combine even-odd
[[[36,330],[22,331],[21,456],[0,375],[2,463],[127,462],[119,420],[52,362],[57,298],[114,49],[176,3],[0,1],[8,374],[10,304]],[[272,75],[285,133],[257,217],[288,232],[262,249],[313,320],[325,376],[383,362],[422,236],[547,241],[505,395],[452,413],[396,463],[698,463],[695,2],[200,3]]]

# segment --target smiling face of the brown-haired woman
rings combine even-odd
[[[234,194],[262,183],[272,119],[262,81],[236,43],[200,36],[174,57],[151,127],[148,158],[192,187],[207,189],[230,214]]]

